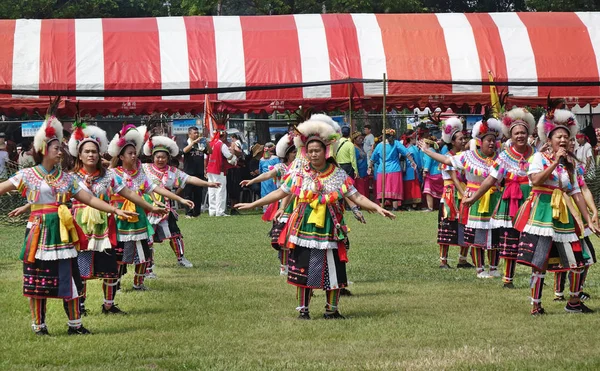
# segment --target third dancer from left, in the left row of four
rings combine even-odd
[[[192,201],[185,200],[162,186],[150,182],[144,174],[138,155],[142,150],[145,133],[145,126],[136,129],[133,125],[123,125],[121,131],[115,134],[108,146],[108,154],[112,156],[111,168],[123,179],[125,186],[139,196],[146,193],[152,197],[153,193],[158,193],[193,208],[194,203]],[[143,210],[121,195],[111,195],[111,203],[123,210],[138,211],[139,215],[136,217],[117,218],[116,220],[116,250],[117,260],[120,264],[119,278],[126,273],[127,264],[135,264],[133,289],[137,291],[147,290],[147,287],[144,286],[144,278],[146,268],[148,265],[151,266],[149,263],[151,263],[152,252],[149,239],[154,234],[154,229]]]

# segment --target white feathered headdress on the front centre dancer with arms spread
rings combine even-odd
[[[325,156],[330,157],[331,144],[340,137],[334,129],[334,124],[335,121],[327,115],[312,115],[308,121],[296,127],[298,135],[294,137],[294,145],[302,150],[303,155],[306,155],[308,142],[317,140],[325,145]]]

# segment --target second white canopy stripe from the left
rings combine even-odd
[[[75,83],[77,90],[104,90],[104,36],[101,19],[75,20]]]

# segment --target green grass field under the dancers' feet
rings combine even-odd
[[[99,281],[88,287],[92,336],[68,337],[59,300],[50,300],[52,334],[30,330],[17,260],[24,227],[0,226],[1,369],[598,369],[599,314],[569,315],[552,302],[548,315],[529,315],[529,273],[518,267],[516,290],[474,271],[441,271],[435,213],[401,213],[395,221],[349,220],[349,279],[345,321],[325,321],[322,292],[313,320],[296,320],[295,288],[279,276],[276,253],[258,215],[181,221],[193,269],[175,265],[157,245],[159,279],[151,291],[117,295],[127,316],[103,316]],[[598,242],[594,239],[594,242]],[[600,244],[597,244],[600,245]],[[457,249],[450,256],[455,265]],[[600,309],[598,269],[586,291]]]

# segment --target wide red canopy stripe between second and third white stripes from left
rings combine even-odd
[[[161,89],[160,44],[156,19],[103,19],[102,28],[105,89]],[[160,99],[158,96],[136,98]]]

